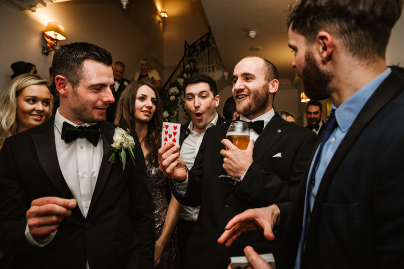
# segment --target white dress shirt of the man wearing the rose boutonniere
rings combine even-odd
[[[73,197],[77,200],[77,205],[80,208],[81,213],[84,217],[87,217],[99,168],[101,166],[101,161],[103,160],[103,140],[99,138],[96,147],[85,138],[78,138],[70,143],[65,143],[65,141],[61,139],[64,121],[73,126],[79,126],[64,118],[59,113],[58,108],[55,115],[54,131],[59,166]],[[85,123],[84,125],[89,126],[91,124]],[[52,241],[56,232],[57,231],[53,232],[48,238],[37,243],[29,232],[27,224],[25,236],[31,244],[43,247]]]

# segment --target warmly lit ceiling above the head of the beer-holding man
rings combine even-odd
[[[294,54],[288,47],[284,14],[292,0],[200,0],[225,69],[232,74],[243,57],[257,55],[273,62],[280,79],[293,82]],[[254,30],[254,39],[248,32]],[[262,47],[251,51],[251,47]]]

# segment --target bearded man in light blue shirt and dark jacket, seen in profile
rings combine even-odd
[[[330,117],[293,206],[245,212],[220,242],[257,228],[271,239],[291,208],[282,268],[401,266],[404,80],[387,68],[385,52],[402,7],[402,0],[301,0],[290,7],[292,65],[309,98],[332,97]],[[250,263],[262,262],[246,252]]]

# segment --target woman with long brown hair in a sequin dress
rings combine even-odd
[[[161,146],[162,104],[154,86],[132,82],[119,98],[115,123],[136,131],[146,162],[146,173],[155,205],[155,268],[178,268],[179,254],[176,224],[181,205],[171,194],[167,203],[167,178],[159,171],[158,150]]]

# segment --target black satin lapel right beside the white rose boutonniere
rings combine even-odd
[[[102,140],[103,140],[103,160],[101,161],[101,167],[99,168],[98,172],[98,177],[97,177],[97,182],[95,183],[95,188],[94,192],[92,193],[91,197],[91,204],[90,208],[88,209],[88,214],[87,216],[91,213],[91,209],[94,207],[99,194],[102,192],[105,182],[108,179],[108,176],[110,175],[111,168],[113,164],[110,164],[108,160],[110,159],[112,153],[114,152],[114,149],[112,148],[112,138],[114,136],[114,130],[115,126],[113,128],[107,127],[104,121],[98,123],[99,130],[102,133]],[[114,162],[117,162],[117,158],[115,159]],[[118,164],[119,165],[119,164]]]

